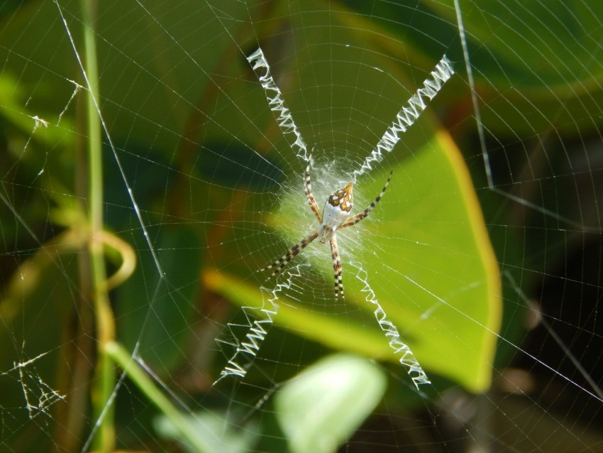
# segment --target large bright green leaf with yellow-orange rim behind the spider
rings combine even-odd
[[[372,217],[340,234],[346,300],[375,310],[362,293],[361,279],[366,280],[428,371],[482,391],[491,378],[502,306],[497,261],[463,159],[448,135],[436,132],[393,170]],[[386,178],[387,170],[382,170],[357,186],[367,197],[377,194]],[[296,204],[300,209],[292,208]],[[308,224],[303,194],[284,195],[282,206],[272,216],[275,227]],[[294,244],[304,233],[294,228],[284,234],[286,243]],[[322,295],[328,303],[333,297],[328,247],[311,244],[304,256],[322,276],[314,285],[311,277],[302,276],[304,298]],[[259,288],[225,273],[207,273],[205,281],[241,306],[260,307],[265,299]],[[342,319],[342,304],[331,305],[331,312],[313,312],[302,301],[288,299],[286,291],[280,299],[277,323],[333,347],[397,360],[376,320],[356,324]]]

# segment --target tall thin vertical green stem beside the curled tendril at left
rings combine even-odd
[[[115,371],[111,358],[105,354],[105,345],[115,337],[114,317],[106,290],[106,271],[101,232],[103,231],[103,165],[102,136],[99,116],[99,74],[96,67],[96,40],[94,17],[96,1],[81,0],[84,13],[85,71],[89,84],[87,98],[87,136],[89,173],[90,259],[92,261],[92,286],[96,315],[96,338],[99,354],[96,363],[96,379],[92,389],[92,405],[95,420],[100,420],[94,438],[94,449],[111,452],[115,446],[114,408],[109,406],[115,386]]]

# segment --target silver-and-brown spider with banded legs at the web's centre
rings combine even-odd
[[[331,257],[333,258],[333,271],[335,272],[335,298],[338,298],[339,293],[341,293],[341,298],[345,299],[345,295],[343,295],[343,280],[341,278],[341,259],[339,258],[339,249],[337,246],[337,236],[335,235],[335,231],[337,229],[351,227],[352,225],[360,222],[360,220],[368,217],[368,214],[370,214],[372,209],[375,209],[375,206],[377,206],[377,203],[380,202],[381,197],[383,194],[385,194],[389,180],[392,179],[393,171],[389,172],[389,177],[387,178],[387,181],[385,181],[385,185],[383,186],[381,193],[377,195],[377,198],[375,198],[375,200],[369,204],[363,212],[355,214],[352,217],[348,217],[348,214],[350,214],[350,211],[352,210],[353,202],[353,183],[348,182],[348,185],[343,187],[343,189],[334,192],[333,195],[328,197],[321,214],[319,211],[319,206],[316,204],[316,200],[314,200],[314,194],[312,194],[312,187],[310,183],[311,159],[312,155],[310,153],[308,165],[306,166],[306,173],[304,174],[304,189],[310,209],[312,209],[312,212],[314,212],[314,216],[316,219],[318,219],[320,226],[318,229],[315,229],[304,239],[292,246],[291,249],[287,250],[283,256],[278,258],[274,263],[270,264],[270,266],[261,268],[258,272],[275,268],[272,274],[270,274],[270,276],[267,278],[267,280],[270,280],[270,278],[277,275],[277,273],[280,273],[284,269],[284,266],[287,266],[287,263],[295,258],[299,252],[304,250],[306,246],[311,243],[311,241],[314,241],[316,238],[318,238],[322,244],[325,244],[326,241],[328,241],[328,243],[331,244]]]

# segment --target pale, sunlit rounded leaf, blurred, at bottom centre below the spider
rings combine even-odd
[[[334,452],[370,415],[385,386],[385,374],[357,356],[338,354],[309,366],[275,397],[291,451]]]

